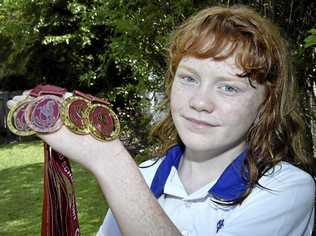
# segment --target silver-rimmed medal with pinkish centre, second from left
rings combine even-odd
[[[28,106],[26,122],[34,131],[48,133],[57,131],[61,126],[60,105],[62,99],[54,95],[38,97]]]

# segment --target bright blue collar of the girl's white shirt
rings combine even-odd
[[[159,198],[170,174],[171,167],[176,169],[179,167],[181,156],[184,148],[180,145],[175,145],[167,151],[166,157],[160,163],[150,190]],[[247,189],[247,180],[242,176],[243,162],[247,157],[247,149],[239,154],[235,160],[224,170],[213,187],[208,193],[216,199],[230,202],[238,199]]]

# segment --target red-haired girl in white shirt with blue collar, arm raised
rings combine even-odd
[[[65,127],[39,135],[96,176],[110,206],[98,235],[312,234],[312,161],[286,45],[246,7],[208,8],[181,25],[170,110],[153,131],[164,154],[141,168],[119,140]]]

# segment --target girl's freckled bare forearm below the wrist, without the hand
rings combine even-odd
[[[106,159],[106,157],[104,157]],[[124,149],[96,177],[123,235],[181,235]],[[103,169],[103,170],[102,170]]]

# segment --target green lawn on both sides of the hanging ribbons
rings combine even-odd
[[[95,235],[107,210],[91,173],[72,163],[81,235]],[[40,235],[43,147],[39,141],[0,146],[0,235]]]

